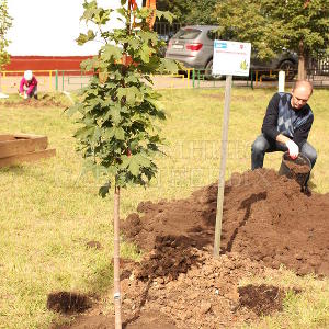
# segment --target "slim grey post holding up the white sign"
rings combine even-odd
[[[214,243],[215,257],[219,257],[219,251],[220,251],[231,81],[232,81],[232,76],[226,76],[225,105],[224,105],[224,117],[223,117],[223,129],[222,129],[222,155],[220,155],[220,169],[219,169],[219,180],[218,180],[217,212],[216,212],[215,243]]]

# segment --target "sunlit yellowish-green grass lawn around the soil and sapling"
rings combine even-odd
[[[235,88],[231,94],[227,173],[250,169],[250,145],[260,133],[266,104],[274,90]],[[181,198],[214,182],[220,160],[224,89],[162,91],[168,121],[159,157],[159,174],[148,189],[122,193],[121,217],[140,201]],[[329,90],[315,90],[309,104],[315,123],[309,141],[318,150],[311,178],[316,192],[329,191]],[[22,100],[16,100],[22,101]],[[48,328],[60,316],[46,309],[54,291],[97,293],[104,311],[112,303],[112,195],[98,196],[100,182],[80,178],[81,158],[75,151],[76,126],[58,107],[4,107],[0,103],[0,132],[47,135],[56,157],[0,169],[0,328]],[[266,156],[264,166],[279,169],[281,154]],[[97,240],[101,250],[87,249]],[[138,259],[131,245],[122,256]],[[261,327],[329,327],[329,282],[297,277],[283,270],[273,282],[307,290],[298,300],[286,300],[285,311],[264,319]],[[254,279],[257,280],[257,277]],[[307,309],[307,311],[306,311]]]

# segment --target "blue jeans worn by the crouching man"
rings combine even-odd
[[[265,152],[284,152],[286,150],[287,147],[285,144],[268,139],[264,134],[259,135],[251,146],[251,170],[263,168]],[[305,141],[299,151],[309,159],[313,168],[317,161],[317,151],[315,148]]]

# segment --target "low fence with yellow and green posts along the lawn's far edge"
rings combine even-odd
[[[18,92],[21,77],[24,71],[2,71],[0,81],[2,92]],[[81,70],[36,70],[34,71],[38,80],[38,91],[73,91],[82,89],[88,84],[92,76],[91,72]],[[287,76],[293,76],[287,72]],[[293,72],[297,73],[296,71]],[[315,87],[329,87],[329,71],[319,71],[309,69],[308,79]],[[275,88],[277,86],[279,70],[251,70],[249,77],[234,77],[235,87],[247,88]],[[201,89],[201,88],[220,88],[224,87],[224,78],[213,77],[209,71],[202,69],[185,69],[177,75],[154,76],[154,86],[156,89]],[[286,79],[286,86],[291,80]]]

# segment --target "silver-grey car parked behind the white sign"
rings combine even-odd
[[[186,68],[204,69],[206,77],[212,77],[214,39],[230,39],[230,35],[218,35],[216,25],[190,25],[181,27],[169,41],[166,58],[181,61]],[[282,69],[287,78],[293,78],[298,65],[298,56],[283,52],[271,61],[251,56],[253,70]]]

